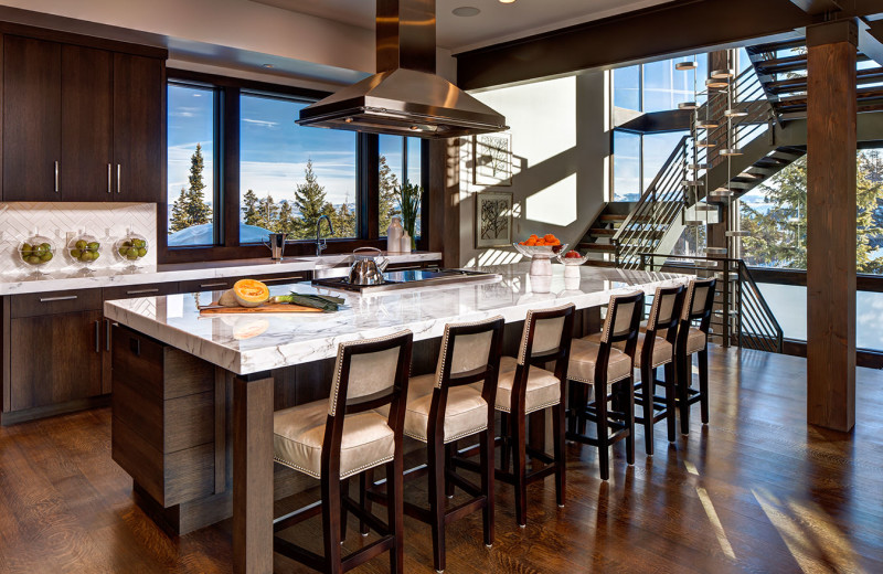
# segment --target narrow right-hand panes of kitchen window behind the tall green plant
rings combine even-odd
[[[398,204],[398,187],[402,182],[412,185],[422,185],[422,146],[419,138],[404,136],[380,136],[377,141],[379,160],[377,176],[380,194],[377,201],[380,217],[377,232],[381,237],[386,236],[392,217],[401,216]],[[421,236],[421,212],[417,211],[414,233]]]

